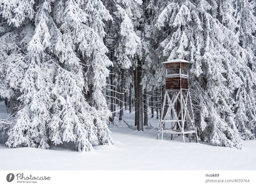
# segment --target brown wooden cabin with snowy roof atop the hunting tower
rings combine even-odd
[[[184,59],[173,59],[163,63],[166,68],[166,90],[188,89],[189,63]]]

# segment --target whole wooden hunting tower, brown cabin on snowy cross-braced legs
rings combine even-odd
[[[183,59],[174,59],[163,64],[166,68],[165,93],[157,138],[159,139],[160,133],[162,139],[163,134],[171,134],[171,139],[174,139],[173,134],[180,134],[183,135],[182,142],[185,142],[185,135],[189,142],[192,139],[198,142],[188,89],[189,62]],[[168,108],[164,114],[166,99]],[[170,120],[167,118],[170,118]],[[165,125],[167,122],[171,124],[169,128]]]

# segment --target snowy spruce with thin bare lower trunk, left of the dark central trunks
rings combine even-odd
[[[120,81],[119,120],[122,120],[124,110],[125,74],[129,74],[129,72],[127,73],[127,69],[133,65],[134,54],[136,53],[138,45],[140,45],[140,38],[136,35],[134,30],[134,27],[136,27],[136,24],[134,26],[134,22],[141,17],[138,7],[141,4],[142,1],[140,0],[111,0],[108,2],[108,9],[110,12],[113,12],[111,15],[114,20],[108,22],[111,31],[108,32],[106,43],[110,48],[110,56],[114,58],[112,71],[115,69],[117,72],[115,73],[115,79]],[[111,54],[112,52],[114,55]],[[111,108],[113,108],[113,106]]]

